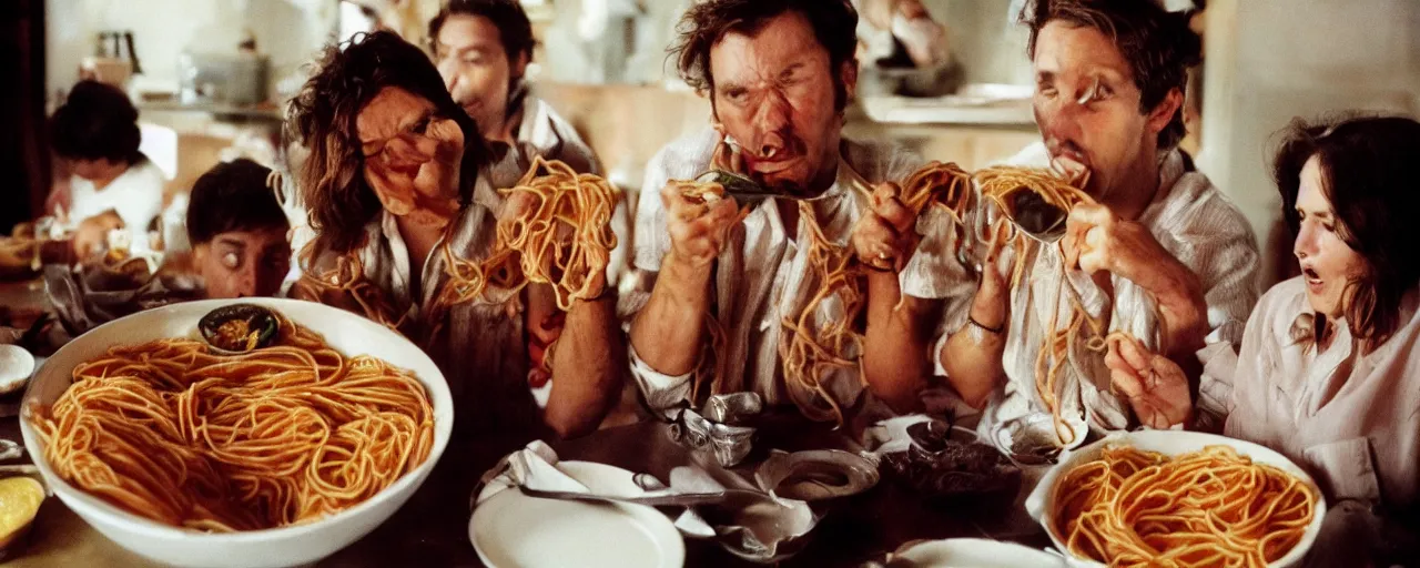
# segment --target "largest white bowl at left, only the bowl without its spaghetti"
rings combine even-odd
[[[54,494],[105,537],[153,561],[193,568],[294,567],[315,562],[375,530],[415,493],[453,429],[449,385],[435,362],[415,344],[379,324],[344,310],[295,300],[244,300],[277,310],[291,321],[321,334],[339,352],[373,355],[409,369],[429,392],[435,409],[435,446],[413,471],[369,500],[318,521],[261,531],[197,532],[126,513],[60,479],[44,459],[44,443],[27,419],[34,403],[53,403],[68,389],[74,366],[115,345],[136,345],[162,338],[197,338],[197,320],[233,301],[209,300],[168,305],[104,324],[65,345],[36,373],[24,395],[20,420],[24,446]]]

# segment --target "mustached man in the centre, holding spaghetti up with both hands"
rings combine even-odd
[[[682,77],[709,97],[714,128],[662,149],[640,195],[635,263],[652,277],[629,302],[639,310],[630,359],[652,409],[673,415],[710,393],[748,390],[770,406],[794,403],[807,417],[843,420],[862,402],[858,352],[835,354],[849,364],[807,381],[790,376],[781,356],[794,332],[785,320],[797,320],[826,280],[809,268],[811,250],[826,241],[839,254],[851,250],[855,229],[916,222],[903,219],[890,189],[870,183],[902,180],[922,160],[841,133],[858,78],[856,21],[846,0],[710,0],[683,17],[673,53]],[[700,200],[676,183],[711,169],[744,173],[772,197],[746,202],[741,212],[734,199]],[[889,192],[876,207],[873,192]],[[869,337],[849,349],[876,356],[876,318],[900,293],[970,293],[951,288],[970,281],[940,253],[947,217],[920,230],[924,244],[914,256],[888,254],[890,267],[869,277]],[[821,307],[818,325],[846,318],[842,302]],[[912,358],[924,361],[930,339],[930,331],[919,334]]]

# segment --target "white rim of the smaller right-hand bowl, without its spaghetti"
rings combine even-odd
[[[1103,564],[1075,558],[1074,554],[1069,552],[1069,548],[1065,547],[1065,538],[1055,531],[1055,486],[1069,470],[1083,464],[1085,462],[1098,459],[1106,444],[1135,446],[1140,450],[1159,452],[1166,456],[1198,452],[1207,446],[1230,446],[1240,454],[1251,457],[1254,463],[1277,467],[1305,481],[1312,487],[1312,491],[1316,491],[1316,510],[1312,515],[1312,524],[1306,527],[1306,532],[1302,534],[1302,540],[1296,542],[1296,547],[1292,547],[1292,550],[1282,558],[1278,558],[1277,562],[1268,564],[1268,567],[1272,568],[1301,565],[1302,558],[1306,557],[1306,551],[1312,548],[1312,541],[1316,540],[1316,532],[1322,528],[1322,518],[1326,517],[1326,498],[1316,487],[1316,481],[1312,480],[1312,476],[1308,476],[1306,471],[1292,463],[1292,460],[1288,460],[1287,456],[1272,452],[1265,446],[1201,432],[1120,432],[1105,436],[1105,439],[1089,446],[1062,453],[1059,463],[1055,467],[1051,467],[1045,477],[1041,479],[1041,483],[1035,486],[1035,491],[1031,491],[1031,496],[1025,498],[1025,510],[1030,511],[1031,517],[1034,517],[1041,527],[1045,528],[1045,532],[1051,535],[1051,542],[1055,542],[1055,548],[1066,555],[1066,559],[1072,567],[1103,567]]]

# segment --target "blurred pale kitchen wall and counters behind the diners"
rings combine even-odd
[[[601,156],[613,182],[639,189],[648,159],[701,128],[709,105],[666,60],[692,0],[524,0],[540,38],[530,78]],[[283,101],[318,50],[383,26],[426,45],[439,0],[4,0],[0,77],[9,87],[0,230],[38,212],[53,176],[44,116],[80,77],[122,84],[143,122],[142,151],[173,196],[207,168],[281,160]],[[1020,0],[923,0],[946,24],[950,65],[863,74],[848,132],[892,138],[966,168],[1038,139],[1031,121]],[[1294,116],[1339,109],[1420,114],[1420,1],[1170,0],[1204,9],[1206,64],[1190,94],[1184,148],[1274,246],[1289,250],[1267,159]],[[16,80],[18,78],[18,80]],[[14,126],[9,126],[14,125]],[[10,172],[20,172],[11,175]],[[28,206],[28,207],[26,207]],[[1281,240],[1281,244],[1278,244]],[[1277,247],[1281,248],[1277,248]]]

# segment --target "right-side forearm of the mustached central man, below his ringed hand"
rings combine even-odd
[[[893,410],[914,412],[932,375],[930,322],[940,301],[906,297],[897,274],[868,275],[868,332],[863,338],[863,379]],[[899,302],[902,310],[897,310]]]

